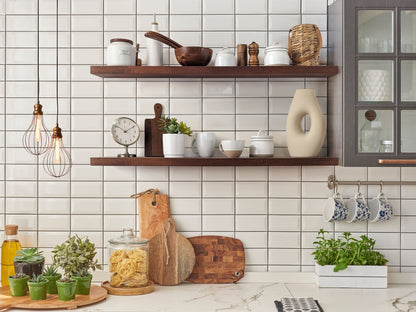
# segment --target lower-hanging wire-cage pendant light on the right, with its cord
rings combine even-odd
[[[59,24],[58,24],[58,1],[56,0],[56,126],[53,128],[52,142],[43,159],[43,168],[52,177],[60,178],[71,170],[71,155],[65,149],[62,141],[62,129],[59,127]]]

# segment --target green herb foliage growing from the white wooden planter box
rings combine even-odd
[[[360,239],[351,237],[351,233],[344,232],[339,238],[325,238],[321,229],[318,232],[312,253],[319,265],[335,265],[334,272],[344,270],[348,265],[385,265],[388,260],[374,250],[375,240],[365,235]]]

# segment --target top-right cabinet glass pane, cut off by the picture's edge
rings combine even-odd
[[[416,53],[416,11],[406,10],[400,14],[402,53]]]

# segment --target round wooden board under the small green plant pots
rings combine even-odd
[[[8,286],[0,288],[0,310],[9,308],[48,310],[68,309],[74,310],[78,307],[96,303],[107,298],[107,290],[97,285],[91,285],[89,295],[76,295],[75,300],[60,301],[57,294],[48,294],[46,300],[30,300],[29,292],[26,296],[12,297]]]

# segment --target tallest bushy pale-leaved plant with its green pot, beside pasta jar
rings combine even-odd
[[[71,276],[72,280],[79,283],[79,287],[76,287],[77,294],[88,295],[92,279],[92,274],[88,270],[101,269],[98,260],[94,259],[97,254],[94,243],[90,242],[88,237],[82,239],[74,235],[56,246],[52,253],[53,263],[63,269],[66,281],[69,282]],[[59,281],[57,286],[59,294]]]

